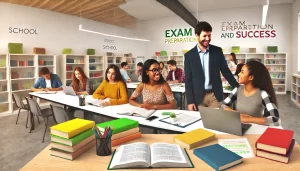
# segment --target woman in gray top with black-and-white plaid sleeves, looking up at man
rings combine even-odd
[[[239,74],[239,84],[223,101],[225,110],[236,102],[243,123],[279,126],[277,99],[267,68],[258,61],[249,61]]]

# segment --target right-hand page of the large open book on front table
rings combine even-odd
[[[187,163],[179,145],[168,143],[154,143],[150,146],[151,163],[171,162]]]

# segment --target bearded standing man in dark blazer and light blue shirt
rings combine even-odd
[[[199,22],[195,28],[197,45],[184,55],[185,90],[188,110],[197,110],[198,105],[219,108],[223,100],[220,72],[235,88],[238,83],[228,68],[220,47],[210,45],[212,27]]]

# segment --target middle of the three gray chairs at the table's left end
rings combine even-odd
[[[30,110],[30,113],[31,113],[31,122],[32,122],[32,124],[34,124],[34,117],[33,117],[34,115],[37,116],[37,117],[42,117],[44,122],[45,122],[45,130],[44,130],[44,136],[43,136],[43,141],[42,141],[42,142],[44,142],[46,130],[48,128],[49,117],[52,116],[54,121],[56,122],[55,117],[54,117],[54,115],[53,115],[50,108],[41,109],[36,100],[31,99],[29,97],[26,97],[26,100],[27,100],[27,104],[29,106],[29,110]],[[31,132],[31,130],[30,130],[30,132]]]

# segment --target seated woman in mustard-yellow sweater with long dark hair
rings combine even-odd
[[[102,106],[128,103],[127,86],[117,65],[110,65],[105,72],[105,80],[93,94],[94,99],[104,100]]]

